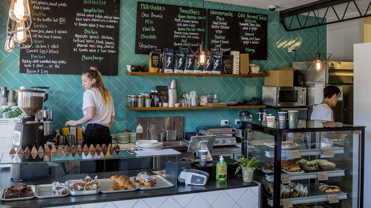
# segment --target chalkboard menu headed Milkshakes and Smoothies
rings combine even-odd
[[[204,33],[203,20],[200,8],[138,1],[135,53],[149,54],[151,49],[162,48],[188,50],[188,46],[197,50]]]

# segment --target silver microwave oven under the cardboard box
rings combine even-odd
[[[305,106],[305,87],[263,86],[263,105],[269,106]]]

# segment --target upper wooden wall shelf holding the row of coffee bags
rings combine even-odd
[[[160,76],[195,76],[195,77],[265,77],[265,74],[188,74],[188,73],[149,73],[149,72],[130,72],[129,75],[160,75]]]

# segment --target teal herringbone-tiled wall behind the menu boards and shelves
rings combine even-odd
[[[149,1],[149,0],[147,0]],[[152,0],[150,2],[156,2]],[[189,0],[157,0],[158,3],[189,6]],[[9,1],[0,3],[0,24],[6,25],[7,8]],[[105,76],[105,84],[114,98],[116,123],[111,132],[134,130],[137,117],[157,116],[184,116],[184,132],[193,131],[198,125],[220,125],[221,119],[229,119],[234,124],[237,115],[245,109],[220,110],[174,110],[174,111],[128,111],[124,109],[127,94],[148,93],[156,85],[170,85],[170,81],[177,82],[178,96],[196,90],[198,94],[220,94],[221,101],[233,101],[236,98],[262,97],[261,77],[189,77],[189,76],[128,76],[125,75],[127,64],[142,64],[148,70],[148,56],[134,54],[135,19],[137,0],[121,0],[120,29],[119,29],[119,73],[118,76]],[[201,0],[192,0],[192,6],[202,7]],[[205,1],[208,9],[221,9],[220,3]],[[223,4],[223,10],[254,12],[252,7]],[[256,13],[268,15],[268,55],[266,61],[250,60],[260,66],[262,70],[278,70],[281,67],[291,66],[293,53],[288,53],[288,47],[296,48],[296,60],[306,61],[306,53],[317,51],[317,29],[309,28],[293,32],[286,32],[279,24],[278,12],[265,9],[255,9]],[[311,18],[308,21],[315,21]],[[2,29],[4,30],[4,28]],[[319,30],[320,51],[326,52],[326,27]],[[0,85],[8,89],[27,88],[32,86],[50,87],[49,100],[45,105],[54,110],[54,128],[62,128],[68,120],[78,120],[82,117],[81,76],[59,74],[20,74],[19,50],[8,53],[0,47]],[[255,117],[258,109],[250,110]]]

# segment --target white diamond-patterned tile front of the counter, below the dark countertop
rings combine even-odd
[[[258,195],[259,188],[250,187],[55,208],[258,208]]]

